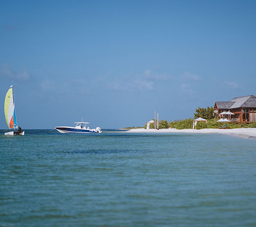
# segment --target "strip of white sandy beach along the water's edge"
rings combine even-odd
[[[131,133],[218,133],[218,134],[226,134],[226,135],[233,135],[238,137],[243,137],[247,139],[256,139],[256,128],[249,128],[249,129],[131,129],[126,132]]]

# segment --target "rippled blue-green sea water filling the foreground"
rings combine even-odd
[[[256,226],[256,140],[1,130],[0,226]]]

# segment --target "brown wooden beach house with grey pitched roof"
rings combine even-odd
[[[253,95],[233,98],[227,102],[215,102],[214,109],[219,117],[229,118],[231,122],[256,122],[256,96]]]

